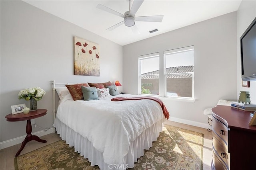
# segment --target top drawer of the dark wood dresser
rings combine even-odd
[[[212,116],[212,131],[222,139],[225,145],[228,147],[228,127],[222,122],[218,121],[214,116]],[[221,140],[220,140],[221,142]]]

